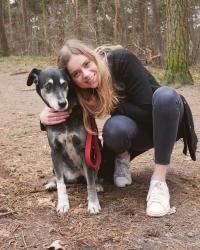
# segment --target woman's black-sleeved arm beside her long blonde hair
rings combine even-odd
[[[108,56],[114,82],[123,83],[123,99],[113,114],[127,115],[137,121],[151,121],[153,88],[159,84],[139,59],[127,49]]]

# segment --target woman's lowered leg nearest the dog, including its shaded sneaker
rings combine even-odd
[[[124,187],[132,183],[128,169],[132,151],[146,151],[153,145],[152,132],[146,131],[129,117],[116,115],[107,120],[103,129],[105,145],[115,152],[114,183]]]

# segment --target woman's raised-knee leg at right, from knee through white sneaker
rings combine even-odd
[[[153,95],[153,140],[155,169],[147,195],[147,214],[160,217],[170,209],[170,196],[165,182],[178,128],[183,117],[180,95],[169,87],[157,89]]]

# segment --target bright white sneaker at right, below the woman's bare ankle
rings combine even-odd
[[[170,210],[169,189],[164,181],[152,180],[147,195],[146,213],[151,217],[161,217]]]

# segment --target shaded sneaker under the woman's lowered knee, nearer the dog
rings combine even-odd
[[[115,158],[114,183],[117,187],[125,187],[132,183],[131,173],[128,165],[130,162],[130,155],[124,158]]]

